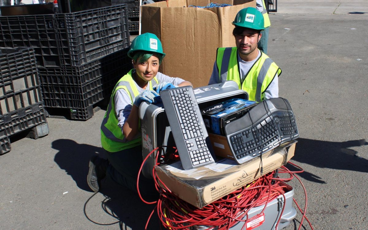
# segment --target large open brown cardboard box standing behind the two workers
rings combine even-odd
[[[239,10],[255,7],[255,0],[220,0],[227,7],[207,6],[209,0],[168,0],[141,7],[141,33],[154,33],[166,56],[160,72],[190,81],[194,87],[208,85],[218,47],[235,46],[234,25]]]

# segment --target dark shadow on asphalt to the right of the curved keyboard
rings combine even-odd
[[[298,138],[297,140],[298,143],[295,156],[292,158],[293,161],[319,168],[368,172],[368,160],[357,156],[357,151],[349,149],[351,147],[368,145],[365,139],[344,142],[318,141],[305,138]],[[297,170],[289,165],[288,168]],[[305,180],[325,183],[323,178],[308,171],[298,175]]]

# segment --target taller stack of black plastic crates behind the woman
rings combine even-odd
[[[35,48],[46,110],[87,120],[131,68],[125,4],[74,13],[0,17],[0,47]]]

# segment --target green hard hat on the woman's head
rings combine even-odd
[[[163,53],[162,44],[160,39],[153,33],[143,33],[138,35],[130,46],[130,50],[128,51],[128,56],[133,58],[133,53],[138,50],[148,51],[160,53],[164,57],[166,54]]]

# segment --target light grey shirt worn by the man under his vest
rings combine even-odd
[[[261,56],[261,52],[258,51],[258,56],[256,57],[256,59],[254,59],[253,61],[243,61],[240,58],[239,53],[238,53],[238,60],[240,60],[239,69],[240,69],[240,76],[241,76],[242,82],[244,81],[245,76],[248,73],[248,71],[252,68],[252,66],[254,65],[254,63],[260,56]],[[212,85],[212,84],[216,84],[220,82],[221,82],[221,79],[219,76],[219,69],[217,68],[217,64],[215,61],[215,63],[213,64],[212,75],[209,79],[208,84]],[[263,93],[263,98],[269,99],[269,98],[278,98],[278,97],[279,97],[279,78],[276,73],[275,78],[273,78],[272,82],[270,83],[266,91]]]

